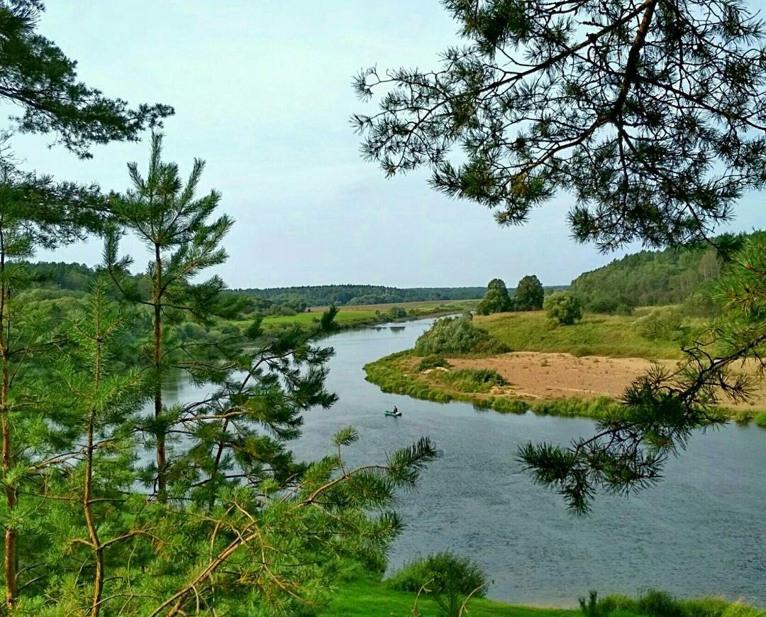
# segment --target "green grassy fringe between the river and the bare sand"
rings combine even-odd
[[[383,392],[442,403],[470,402],[479,409],[494,409],[500,413],[524,413],[531,409],[538,415],[602,418],[614,406],[614,401],[604,397],[590,401],[558,399],[528,402],[508,395],[493,394],[497,388],[486,387],[487,379],[480,371],[473,373],[476,387],[470,390],[470,376],[466,371],[460,372],[459,379],[450,379],[448,373],[444,376],[440,372],[424,374],[417,366],[420,361],[411,350],[393,353],[365,365],[366,379]]]

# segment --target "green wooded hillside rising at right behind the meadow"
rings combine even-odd
[[[716,239],[733,250],[751,236]],[[571,291],[584,300],[588,310],[598,313],[620,313],[633,307],[682,304],[690,300],[704,302],[725,267],[726,262],[709,245],[640,251],[581,274],[572,281]]]

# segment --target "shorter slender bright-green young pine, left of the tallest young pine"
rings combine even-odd
[[[136,481],[136,410],[146,395],[139,371],[114,371],[112,353],[124,325],[123,317],[106,297],[105,285],[97,281],[87,313],[74,317],[67,329],[73,345],[57,369],[57,381],[65,386],[59,400],[70,410],[70,426],[83,437],[82,447],[67,460],[77,467],[59,483],[69,491],[57,498],[79,501],[87,528],[87,538],[70,537],[62,531],[57,542],[63,546],[80,544],[90,550],[91,556],[85,556],[81,563],[93,566],[91,617],[98,617],[108,602],[103,596],[110,578],[106,572],[110,563],[107,548],[114,552],[116,544],[139,533],[135,526],[125,528],[114,508],[118,504],[127,510],[124,495]],[[61,473],[61,468],[54,471]],[[71,516],[61,520],[71,520]],[[88,595],[83,589],[80,597],[87,599]]]

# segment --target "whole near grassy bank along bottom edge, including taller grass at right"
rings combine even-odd
[[[327,609],[319,615],[358,615],[358,617],[410,617],[415,594],[389,589],[375,579],[362,579],[348,583],[339,590]],[[576,600],[573,599],[573,604]],[[647,617],[673,615],[674,617],[766,617],[766,612],[739,603],[709,598],[699,600],[673,600],[662,593],[647,594],[642,599],[626,596],[607,596],[599,602],[603,617]],[[580,609],[544,609],[515,606],[487,599],[473,599],[468,605],[470,617],[575,617],[584,615]],[[437,617],[436,602],[421,596],[417,602],[421,617]]]

